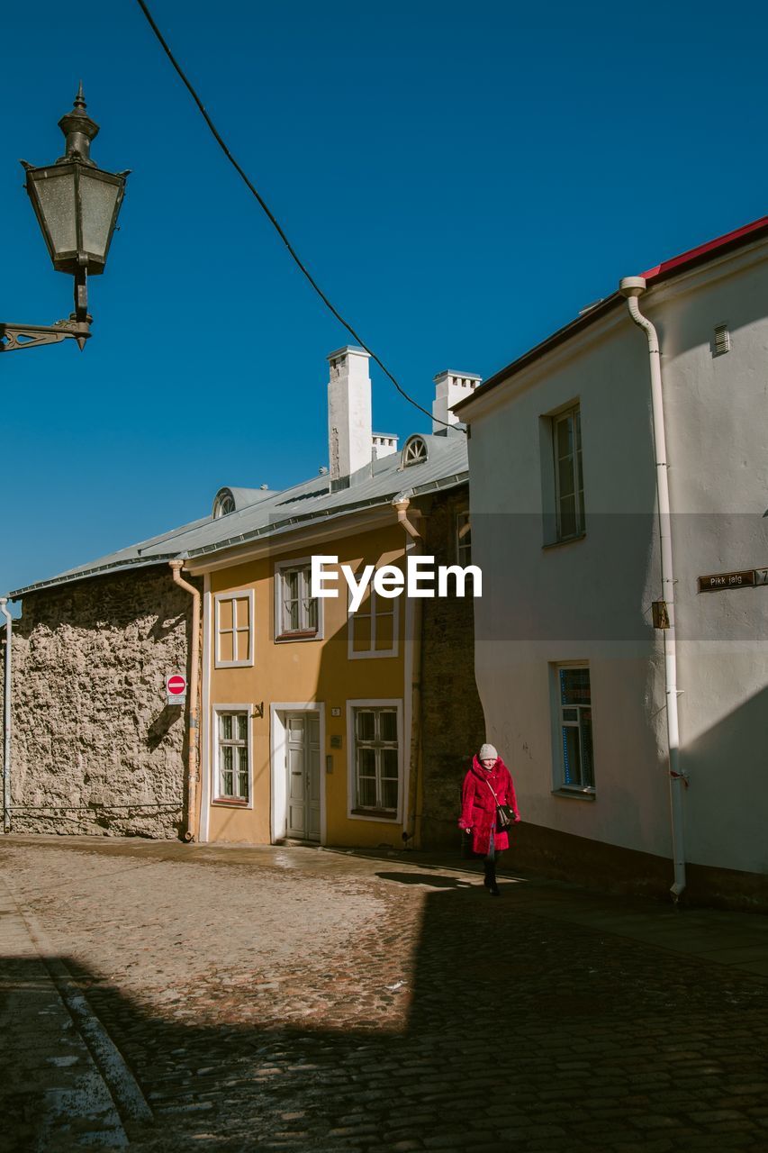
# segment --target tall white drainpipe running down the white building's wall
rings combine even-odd
[[[653,400],[654,444],[656,449],[656,492],[658,495],[658,532],[661,538],[662,596],[667,603],[669,627],[664,633],[664,680],[667,691],[667,737],[669,744],[669,793],[672,822],[672,857],[675,883],[670,888],[677,902],[685,889],[685,845],[683,838],[683,787],[687,784],[680,773],[680,732],[677,711],[677,653],[675,640],[675,574],[672,571],[672,537],[670,528],[669,475],[667,438],[664,436],[664,397],[662,392],[661,352],[658,336],[650,321],[640,311],[638,296],[646,291],[642,277],[625,277],[619,292],[626,297],[630,316],[648,338],[650,363],[650,395]]]

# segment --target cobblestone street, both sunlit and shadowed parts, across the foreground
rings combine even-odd
[[[0,874],[2,1148],[768,1150],[756,914],[417,853],[6,837]]]

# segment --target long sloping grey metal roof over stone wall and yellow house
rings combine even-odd
[[[330,490],[329,476],[317,475],[281,492],[241,489],[239,495],[253,493],[256,499],[238,506],[235,512],[191,521],[58,576],[16,589],[9,596],[20,597],[105,572],[163,564],[175,557],[199,557],[248,541],[280,536],[313,521],[340,519],[361,508],[386,505],[400,493],[419,496],[466,483],[466,437],[453,430],[449,430],[447,436],[419,435],[428,446],[428,457],[416,465],[402,468],[401,454],[391,453],[354,473],[349,477],[349,487],[337,491]]]

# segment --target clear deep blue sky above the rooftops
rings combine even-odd
[[[424,407],[618,279],[768,212],[765,6],[152,0],[321,285]],[[227,165],[134,0],[3,16],[5,321],[70,310],[18,158],[131,168],[93,338],[7,355],[0,589],[205,515],[221,484],[326,464],[347,344]],[[377,370],[374,425],[427,420]]]

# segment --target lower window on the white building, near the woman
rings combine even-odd
[[[558,664],[554,666],[554,676],[558,733],[556,787],[594,792],[589,668],[583,664]]]

